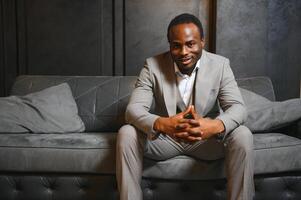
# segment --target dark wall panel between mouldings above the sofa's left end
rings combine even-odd
[[[22,72],[112,75],[112,1],[20,0],[17,11]]]

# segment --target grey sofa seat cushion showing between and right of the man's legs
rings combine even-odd
[[[301,170],[301,140],[280,133],[255,134],[255,174]],[[156,162],[145,158],[143,176],[172,180],[225,178],[224,159],[200,161],[185,155]]]

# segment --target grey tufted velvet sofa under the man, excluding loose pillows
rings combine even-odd
[[[18,77],[12,95],[67,82],[86,130],[0,133],[0,199],[118,199],[115,138],[135,80],[130,76]],[[238,84],[275,100],[266,77],[239,79]],[[300,123],[254,134],[255,199],[301,199],[300,136]],[[223,163],[223,159],[205,162],[187,156],[160,162],[145,159],[144,199],[226,199]]]

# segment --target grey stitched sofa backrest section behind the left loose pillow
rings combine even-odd
[[[125,109],[134,88],[134,76],[19,76],[11,95],[26,95],[68,83],[85,123],[86,132],[115,132],[124,124]]]

